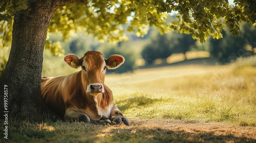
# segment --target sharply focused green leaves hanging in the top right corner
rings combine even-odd
[[[177,16],[180,20],[170,23],[170,28],[181,33],[191,33],[200,42],[204,42],[209,35],[222,38],[221,31],[225,26],[231,29],[234,36],[238,36],[241,21],[256,25],[256,14],[253,10],[256,5],[249,0],[234,1],[232,7],[227,1],[181,1],[174,7],[180,14]],[[224,18],[225,26],[219,20],[221,17]]]

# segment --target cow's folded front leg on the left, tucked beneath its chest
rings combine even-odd
[[[67,121],[83,121],[83,122],[91,122],[89,116],[84,113],[76,112],[74,110],[66,110],[65,115],[64,115],[65,120]]]

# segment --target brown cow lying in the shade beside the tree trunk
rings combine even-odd
[[[45,104],[67,121],[90,122],[104,118],[112,124],[123,122],[130,126],[127,118],[114,105],[113,94],[104,84],[106,67],[119,67],[124,58],[112,55],[105,59],[100,52],[88,51],[82,58],[67,55],[64,60],[81,70],[68,76],[42,77],[41,94]]]

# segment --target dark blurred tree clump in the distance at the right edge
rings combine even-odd
[[[255,33],[256,28],[247,23],[241,24],[240,37],[233,37],[228,29],[224,29],[222,39],[209,39],[209,52],[222,62],[232,62],[238,57],[253,55],[253,49],[256,47]]]

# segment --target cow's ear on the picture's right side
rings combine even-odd
[[[124,62],[123,56],[120,55],[112,55],[108,59],[106,59],[106,66],[109,69],[116,69]]]

